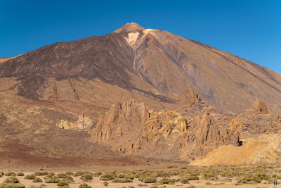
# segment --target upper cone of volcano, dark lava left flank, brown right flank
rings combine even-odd
[[[175,102],[192,89],[223,112],[241,113],[256,99],[280,113],[281,75],[211,46],[136,23],[102,37],[60,42],[8,60],[18,94],[40,100],[55,80],[98,79],[143,96]]]

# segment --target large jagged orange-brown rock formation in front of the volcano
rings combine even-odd
[[[181,97],[178,111],[153,112],[136,101],[115,104],[100,117],[92,138],[123,153],[185,161],[204,156],[223,144],[238,142],[237,137],[221,132],[211,115],[219,111],[198,94],[186,91]]]

